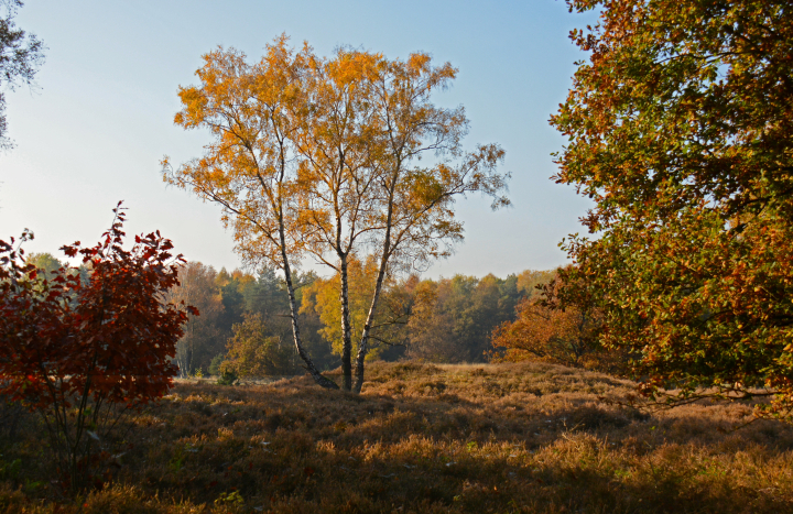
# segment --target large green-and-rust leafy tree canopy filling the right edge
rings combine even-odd
[[[552,124],[595,201],[565,242],[602,341],[649,395],[793,405],[793,12],[787,1],[573,0],[601,21]],[[572,294],[572,293],[571,293]],[[753,387],[764,387],[762,391]],[[702,391],[702,390],[699,390]]]

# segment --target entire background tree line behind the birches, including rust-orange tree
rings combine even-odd
[[[42,271],[63,265],[50,253],[28,259]],[[79,269],[88,274],[85,266]],[[360,337],[366,299],[377,266],[350,260],[350,331]],[[295,274],[295,300],[305,347],[324,371],[338,368],[338,274]],[[369,360],[420,360],[434,363],[544,360],[572,367],[613,370],[594,345],[597,314],[591,308],[561,308],[563,287],[555,270],[526,270],[499,278],[455,275],[389,280],[370,336]],[[291,343],[289,298],[283,277],[272,267],[258,273],[216,271],[200,262],[181,266],[172,303],[195,306],[187,315],[174,361],[180,376],[261,378],[303,372]],[[354,350],[357,348],[354,347]],[[602,349],[600,349],[602,350]]]

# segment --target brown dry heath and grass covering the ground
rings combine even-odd
[[[793,512],[793,428],[747,405],[654,416],[630,384],[523,363],[370,367],[361,396],[307,379],[180,383],[108,448],[112,482],[55,501],[41,434],[7,444],[0,508],[143,512]],[[20,459],[17,471],[11,462]]]

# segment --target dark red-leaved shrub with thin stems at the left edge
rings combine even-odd
[[[0,395],[41,414],[64,488],[85,484],[94,442],[124,413],[172,386],[176,341],[187,313],[198,315],[164,302],[182,261],[171,241],[153,232],[124,250],[120,204],[115,212],[98,244],[62,248],[87,277],[69,266],[42,273],[13,239],[0,241]]]

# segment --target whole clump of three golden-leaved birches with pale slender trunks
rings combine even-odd
[[[373,320],[389,274],[446,256],[463,239],[457,197],[484,193],[493,207],[506,175],[495,144],[463,151],[468,120],[461,107],[435,107],[431,95],[454,79],[446,63],[425,54],[389,61],[338,50],[319,58],[294,54],[281,36],[256,66],[233,50],[205,57],[200,87],[180,91],[176,123],[205,127],[215,142],[200,160],[165,178],[220,204],[237,251],[281,269],[290,295],[295,345],[318,383],[332,386],[303,351],[290,262],[309,254],[339,276],[343,387],[360,392]],[[433,163],[420,166],[423,155]],[[378,262],[352,385],[349,260]]]

